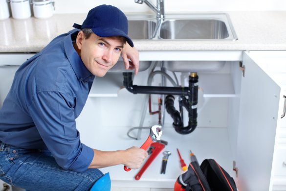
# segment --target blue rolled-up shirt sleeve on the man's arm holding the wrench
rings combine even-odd
[[[64,169],[85,171],[94,154],[90,147],[80,141],[74,102],[58,91],[43,91],[34,95],[28,108],[41,138],[57,164]]]

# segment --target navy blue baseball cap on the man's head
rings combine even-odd
[[[133,47],[133,42],[128,36],[128,20],[125,14],[117,7],[99,5],[88,12],[82,25],[73,24],[78,29],[91,28],[100,37],[123,36],[126,42]]]

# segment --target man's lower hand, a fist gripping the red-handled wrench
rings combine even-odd
[[[132,146],[125,150],[125,163],[124,165],[128,168],[137,169],[141,167],[143,161],[148,157],[146,150]]]

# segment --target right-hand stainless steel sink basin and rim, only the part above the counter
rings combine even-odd
[[[158,33],[161,39],[172,40],[237,40],[227,14],[190,14],[168,18]]]

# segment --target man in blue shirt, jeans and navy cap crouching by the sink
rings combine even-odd
[[[139,168],[148,156],[137,147],[100,151],[80,142],[75,119],[94,77],[104,76],[120,55],[135,73],[139,61],[118,8],[97,6],[74,27],[22,64],[0,109],[0,179],[8,184],[86,191],[103,176],[97,168]]]

